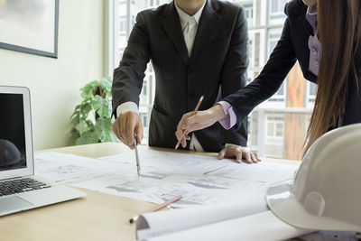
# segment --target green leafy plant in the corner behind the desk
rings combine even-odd
[[[112,79],[89,82],[80,88],[82,101],[70,116],[71,139],[75,144],[116,142],[112,131]]]

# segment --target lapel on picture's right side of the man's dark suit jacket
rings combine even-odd
[[[190,64],[197,58],[202,47],[209,41],[209,35],[216,30],[217,23],[221,18],[216,13],[217,10],[217,2],[213,2],[212,5],[212,0],[207,0],[207,4],[204,6],[203,13],[199,19],[198,31],[190,55]]]

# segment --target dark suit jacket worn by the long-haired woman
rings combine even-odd
[[[314,83],[317,82],[317,76],[309,70],[310,49],[308,41],[313,30],[306,19],[306,12],[307,6],[301,0],[293,0],[285,6],[287,18],[283,25],[282,35],[264,69],[245,88],[225,97],[224,100],[232,105],[237,116],[235,130],[239,127],[240,121],[254,107],[272,97],[281,87],[283,79],[292,69],[296,60],[299,60],[304,78]],[[361,88],[356,89],[354,79],[349,79],[348,86],[346,113],[345,116],[340,116],[338,125],[361,122]]]

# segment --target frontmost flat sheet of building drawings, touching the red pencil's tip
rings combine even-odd
[[[131,199],[141,199],[162,203],[180,194],[184,198],[173,203],[172,207],[190,207],[221,203],[229,200],[245,199],[264,195],[264,183],[239,181],[204,175],[190,176],[171,174],[163,178],[134,177],[119,173],[106,173],[93,176],[86,181],[72,181],[72,185],[90,190]]]

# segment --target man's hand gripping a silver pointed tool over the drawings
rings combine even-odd
[[[141,116],[133,111],[119,114],[112,127],[116,137],[132,150],[134,149],[134,133],[137,136],[138,144],[140,144],[143,139]]]

